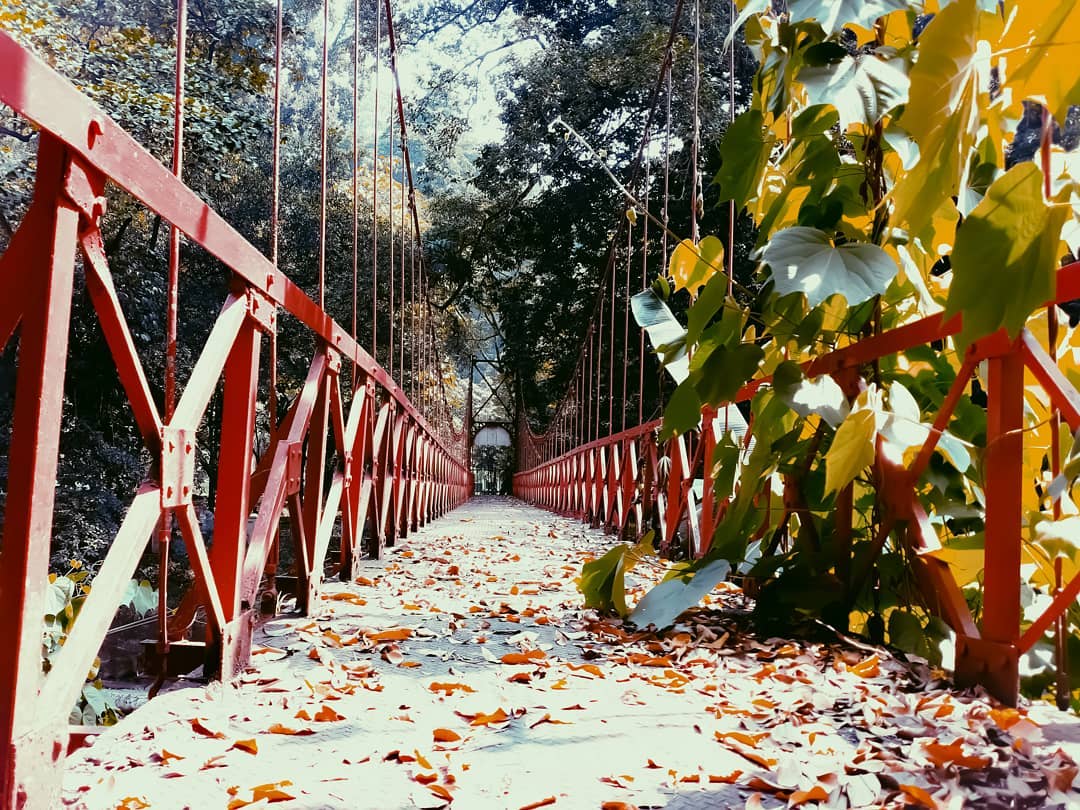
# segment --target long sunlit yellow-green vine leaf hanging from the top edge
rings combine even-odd
[[[978,19],[975,0],[942,9],[919,38],[910,100],[900,125],[918,144],[919,162],[893,187],[891,224],[919,237],[960,189],[978,135]]]

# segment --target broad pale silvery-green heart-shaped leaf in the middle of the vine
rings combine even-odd
[[[836,246],[815,228],[795,226],[778,231],[761,251],[777,292],[805,293],[815,307],[831,295],[861,303],[888,289],[900,268],[877,245],[849,242]]]

